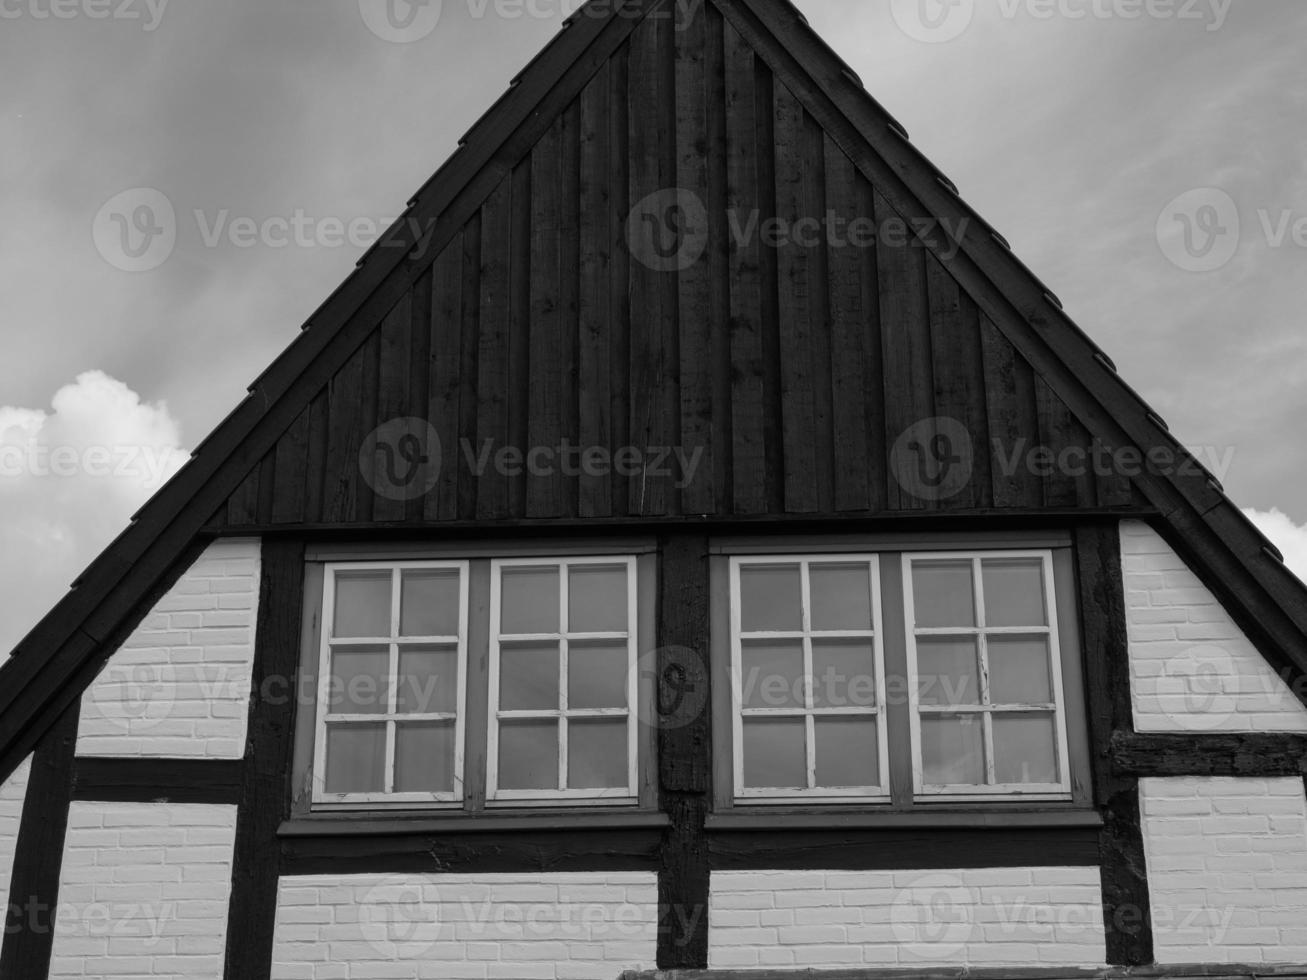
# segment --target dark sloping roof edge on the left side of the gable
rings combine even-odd
[[[195,448],[128,527],[0,665],[0,779],[30,751],[43,727],[77,696],[61,690],[95,659],[119,622],[192,545],[204,524],[294,421],[298,396],[324,384],[332,365],[363,341],[403,289],[434,261],[472,206],[512,169],[514,137],[561,111],[635,26],[668,0],[599,0],[578,9],[521,69],[508,90],[459,140],[405,212],[354,272],[306,320],[302,333],[250,384],[246,397]],[[575,93],[574,93],[575,94]],[[520,155],[520,154],[519,154]],[[471,195],[467,192],[472,192]],[[478,193],[484,191],[484,193]],[[306,404],[306,402],[305,402]],[[39,728],[39,730],[38,730]]]

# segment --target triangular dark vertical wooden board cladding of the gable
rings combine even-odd
[[[689,264],[651,268],[629,227],[659,192],[702,226]],[[878,240],[852,243],[868,229]],[[659,8],[251,470],[226,524],[1132,504],[1124,478],[1012,465],[1036,447],[1087,459],[1090,435],[921,240],[946,252],[946,235],[895,210],[716,7]],[[406,500],[359,465],[369,433],[404,417],[440,447]],[[932,493],[912,453],[958,427],[970,477]],[[575,447],[574,465],[495,463],[533,447]],[[623,447],[638,455],[617,465]]]

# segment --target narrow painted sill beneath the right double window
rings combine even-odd
[[[1103,817],[1086,809],[918,809],[918,810],[835,810],[795,808],[778,810],[736,806],[710,813],[710,830],[921,830],[928,827],[971,827],[1009,830],[1014,827],[1102,827]]]

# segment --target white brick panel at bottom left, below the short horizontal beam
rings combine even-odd
[[[74,802],[50,976],[221,980],[235,809]]]

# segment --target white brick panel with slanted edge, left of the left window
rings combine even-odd
[[[259,541],[209,545],[82,695],[77,753],[240,758],[257,602]]]

